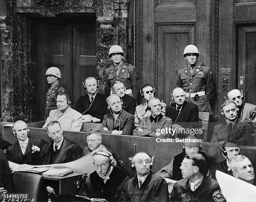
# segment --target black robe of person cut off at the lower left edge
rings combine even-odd
[[[10,193],[15,192],[13,176],[10,172],[8,159],[2,149],[0,149],[0,187],[4,187],[4,189]]]

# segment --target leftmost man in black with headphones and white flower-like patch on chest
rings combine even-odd
[[[27,124],[22,120],[13,124],[13,134],[17,141],[6,150],[8,161],[16,164],[36,165],[38,153],[46,141],[28,137],[28,131]]]

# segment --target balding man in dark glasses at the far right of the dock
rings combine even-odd
[[[236,103],[239,109],[238,118],[241,122],[250,123],[254,130],[253,132],[256,133],[256,105],[245,102],[243,94],[238,89],[228,92],[227,98]]]

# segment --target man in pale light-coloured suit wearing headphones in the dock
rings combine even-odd
[[[59,93],[56,97],[56,103],[58,109],[50,111],[49,117],[42,128],[46,128],[50,121],[56,120],[63,130],[80,131],[82,128],[82,114],[69,106],[71,105],[69,95],[66,92]]]

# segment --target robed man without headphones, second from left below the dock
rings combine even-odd
[[[77,160],[84,155],[80,146],[63,137],[58,121],[50,121],[46,128],[52,141],[41,148],[37,164],[62,164]]]

